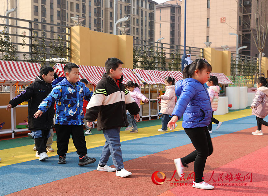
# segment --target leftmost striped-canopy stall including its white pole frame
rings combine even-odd
[[[10,99],[15,97],[18,84],[29,84],[39,75],[41,65],[29,62],[0,61],[0,82],[3,85],[10,85]],[[0,106],[5,109],[7,106]],[[28,107],[28,105],[18,105],[17,107]],[[2,129],[0,134],[12,134],[12,138],[16,132],[28,131],[28,129],[15,129],[16,126],[16,108],[11,108],[11,129]]]

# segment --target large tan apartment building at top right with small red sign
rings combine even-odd
[[[245,25],[248,16],[251,18],[251,28],[256,32],[256,22],[264,22],[266,10],[261,12],[256,19],[256,5],[264,8],[265,0],[187,0],[186,7],[186,45],[204,48],[204,42],[211,42],[212,48],[223,50],[221,46],[227,45],[232,53],[236,53],[237,36],[238,47],[248,46],[239,53],[258,57],[258,50],[253,37],[249,32],[250,27]],[[245,11],[246,10],[246,11]],[[184,0],[181,3],[181,27],[184,27]],[[259,17],[259,16],[257,16]],[[266,17],[267,18],[267,17]],[[266,21],[267,22],[267,21]],[[181,28],[181,43],[184,42],[184,28]],[[268,40],[267,40],[268,43]],[[268,47],[265,53],[267,54]]]

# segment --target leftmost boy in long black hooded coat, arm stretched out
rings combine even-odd
[[[48,65],[40,68],[39,76],[31,83],[25,91],[10,100],[7,110],[11,107],[16,107],[24,101],[28,101],[28,129],[31,130],[37,149],[36,157],[39,161],[48,159],[47,153],[47,139],[50,137],[50,130],[53,130],[54,108],[48,108],[41,118],[35,119],[33,117],[39,104],[52,90],[52,81],[54,80],[54,69]],[[53,103],[54,104],[54,103]]]

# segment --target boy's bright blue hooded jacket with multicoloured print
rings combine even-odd
[[[46,112],[55,102],[56,124],[83,125],[83,102],[84,99],[89,101],[93,93],[82,82],[75,83],[75,89],[65,77],[55,79],[52,86],[51,93],[40,103],[38,109]]]

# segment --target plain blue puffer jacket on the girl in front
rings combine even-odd
[[[212,108],[206,87],[198,80],[186,78],[179,80],[175,86],[179,99],[172,116],[183,115],[183,128],[208,126],[211,121]]]

